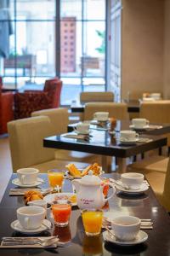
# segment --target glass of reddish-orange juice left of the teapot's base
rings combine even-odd
[[[71,216],[71,202],[66,200],[54,201],[52,205],[54,223],[57,226],[65,227],[69,224]]]

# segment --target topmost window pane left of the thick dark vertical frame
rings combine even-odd
[[[17,0],[18,20],[54,20],[55,0]]]

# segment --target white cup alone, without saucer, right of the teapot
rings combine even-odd
[[[127,172],[122,173],[121,175],[122,183],[128,188],[128,189],[140,189],[142,183],[144,182],[144,175],[142,173],[137,172]]]

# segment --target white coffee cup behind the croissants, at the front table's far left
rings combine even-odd
[[[39,170],[35,168],[22,168],[17,170],[17,176],[23,185],[31,185],[37,181]]]

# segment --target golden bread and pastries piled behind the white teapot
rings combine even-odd
[[[78,169],[74,164],[69,164],[65,166],[67,168],[66,174],[71,177],[83,177],[88,174],[89,171],[94,172],[94,175],[101,175],[104,172],[101,170],[101,166],[98,163],[94,163],[93,165],[87,166],[85,169]]]

